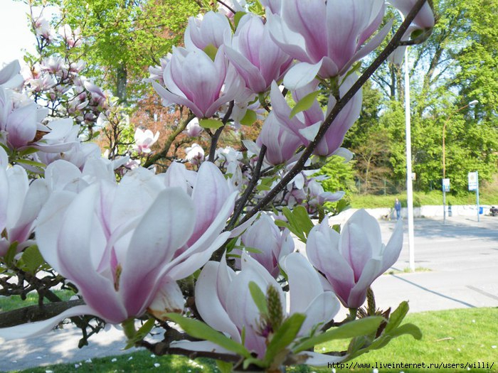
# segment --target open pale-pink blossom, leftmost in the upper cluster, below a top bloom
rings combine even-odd
[[[157,82],[152,85],[164,104],[185,105],[199,118],[212,117],[221,105],[245,90],[235,69],[228,65],[223,45],[214,61],[202,50],[174,48],[163,81],[166,89]]]

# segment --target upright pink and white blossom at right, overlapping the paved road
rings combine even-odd
[[[371,283],[394,264],[403,247],[403,225],[398,221],[387,245],[377,220],[365,210],[356,211],[337,233],[327,219],[310,232],[306,254],[327,279],[341,303],[359,308]]]

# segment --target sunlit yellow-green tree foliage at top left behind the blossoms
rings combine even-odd
[[[83,45],[74,53],[87,63],[85,75],[112,90],[122,102],[142,97],[149,65],[181,44],[191,0],[55,0],[61,23],[80,27]],[[69,51],[66,51],[69,53]],[[130,84],[132,83],[132,84]]]

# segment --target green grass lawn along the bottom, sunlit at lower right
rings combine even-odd
[[[335,369],[335,372],[375,372],[375,364],[388,363],[455,363],[472,364],[470,369],[384,369],[378,372],[498,372],[498,308],[466,308],[409,314],[406,322],[415,323],[423,331],[423,340],[403,336],[393,340],[382,350],[356,358],[350,364],[371,364],[369,369]],[[90,340],[91,343],[91,340]],[[344,349],[341,343],[328,343],[317,348]],[[478,368],[478,364],[481,368]],[[494,365],[492,366],[492,363]],[[474,368],[475,364],[475,368]],[[484,368],[483,368],[484,364]],[[487,368],[489,364],[489,368]],[[78,365],[78,367],[75,367]],[[212,360],[186,357],[157,357],[147,351],[129,355],[93,359],[92,362],[59,364],[50,367],[26,369],[23,372],[219,372]],[[327,368],[295,367],[287,372],[333,372]]]

